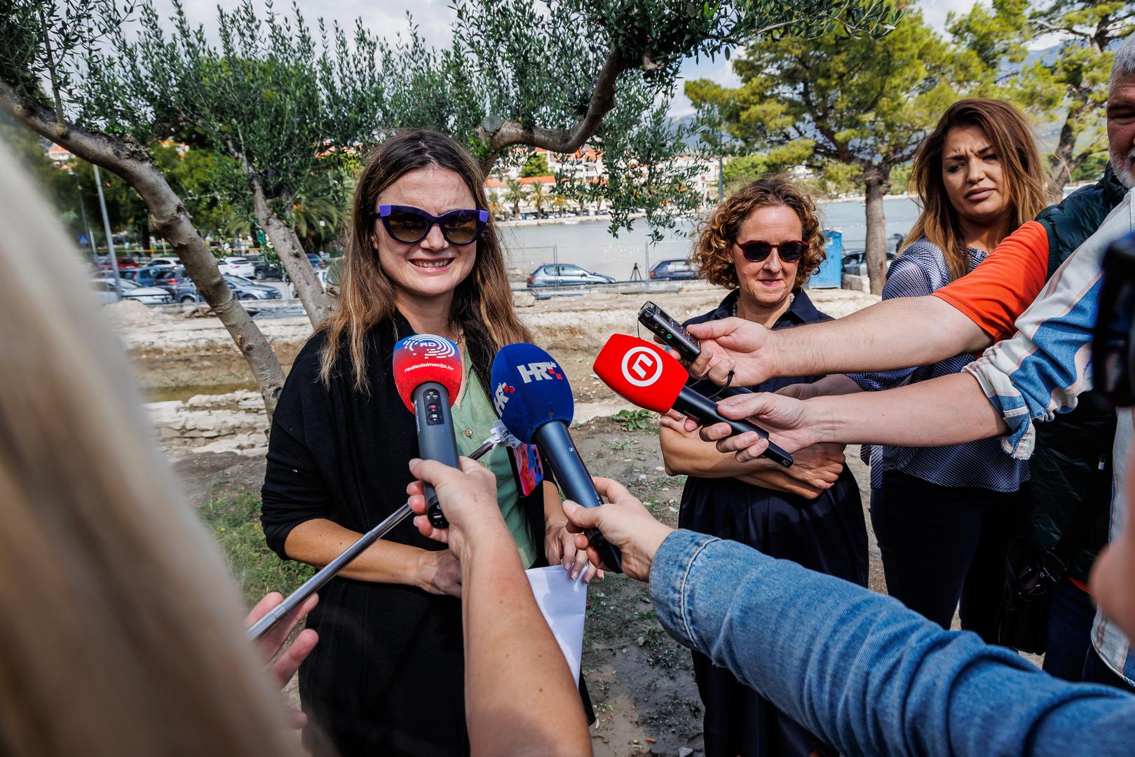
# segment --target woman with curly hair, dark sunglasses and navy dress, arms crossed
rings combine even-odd
[[[812,199],[783,178],[754,182],[728,197],[701,227],[693,252],[699,274],[732,292],[687,325],[738,317],[779,329],[830,320],[802,289],[824,258]],[[750,388],[775,392],[821,378],[775,378]],[[720,389],[709,381],[699,384],[695,389],[707,396]],[[867,584],[867,527],[859,486],[843,466],[842,445],[801,449],[789,469],[763,459],[739,463],[667,417],[662,419],[661,441],[666,472],[688,477],[680,528]],[[832,754],[732,673],[692,654],[705,705],[706,755]]]

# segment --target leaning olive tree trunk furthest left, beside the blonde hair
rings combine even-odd
[[[225,284],[216,258],[193,227],[180,197],[150,161],[145,149],[129,140],[65,125],[57,119],[54,111],[25,101],[3,81],[0,81],[0,110],[70,153],[121,177],[138,193],[149,209],[151,230],[170,243],[197,292],[228,329],[237,350],[252,369],[270,420],[284,387],[284,371],[279,361],[252,317]]]

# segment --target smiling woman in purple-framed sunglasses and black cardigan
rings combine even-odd
[[[513,310],[484,183],[465,149],[428,129],[387,140],[362,169],[338,306],[296,358],[272,420],[262,522],[280,557],[325,565],[405,503],[418,440],[392,373],[400,338],[438,334],[459,346],[459,452],[489,436],[493,358],[531,336]],[[523,565],[547,560],[590,580],[556,488],[526,495],[507,448],[481,462]],[[340,575],[308,621],[320,644],[300,668],[304,745],[343,757],[466,752],[455,557],[405,521]]]

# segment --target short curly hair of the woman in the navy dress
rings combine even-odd
[[[819,230],[816,203],[807,193],[782,176],[757,179],[728,196],[713,213],[698,226],[698,242],[690,255],[698,276],[711,284],[735,289],[740,281],[733,266],[733,244],[737,234],[749,216],[760,208],[783,205],[800,217],[802,242],[808,250],[800,258],[792,288],[804,286],[819,264],[827,259],[824,235]]]

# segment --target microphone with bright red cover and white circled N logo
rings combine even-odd
[[[704,426],[728,423],[733,429],[730,436],[755,431],[760,438],[768,439],[768,431],[759,426],[730,420],[717,412],[717,403],[686,386],[689,375],[682,364],[649,342],[627,334],[613,334],[591,368],[619,396],[639,407],[656,413],[676,410]],[[772,440],[762,457],[768,457],[784,468],[792,464],[792,455]]]

